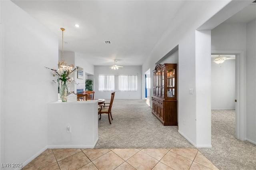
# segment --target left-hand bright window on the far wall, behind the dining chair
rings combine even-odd
[[[114,75],[99,75],[99,91],[114,91],[115,76]]]

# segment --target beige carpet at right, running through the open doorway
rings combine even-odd
[[[198,148],[222,170],[256,170],[256,145],[235,137],[235,111],[212,110],[212,148]]]

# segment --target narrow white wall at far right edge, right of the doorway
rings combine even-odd
[[[246,25],[246,138],[256,144],[256,20]]]

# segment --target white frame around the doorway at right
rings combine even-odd
[[[246,60],[243,50],[212,50],[212,55],[236,55],[235,96],[236,96],[236,138],[246,140]],[[235,102],[235,101],[234,101]]]

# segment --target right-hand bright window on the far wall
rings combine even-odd
[[[137,91],[138,84],[137,75],[119,75],[118,90],[119,91]]]

